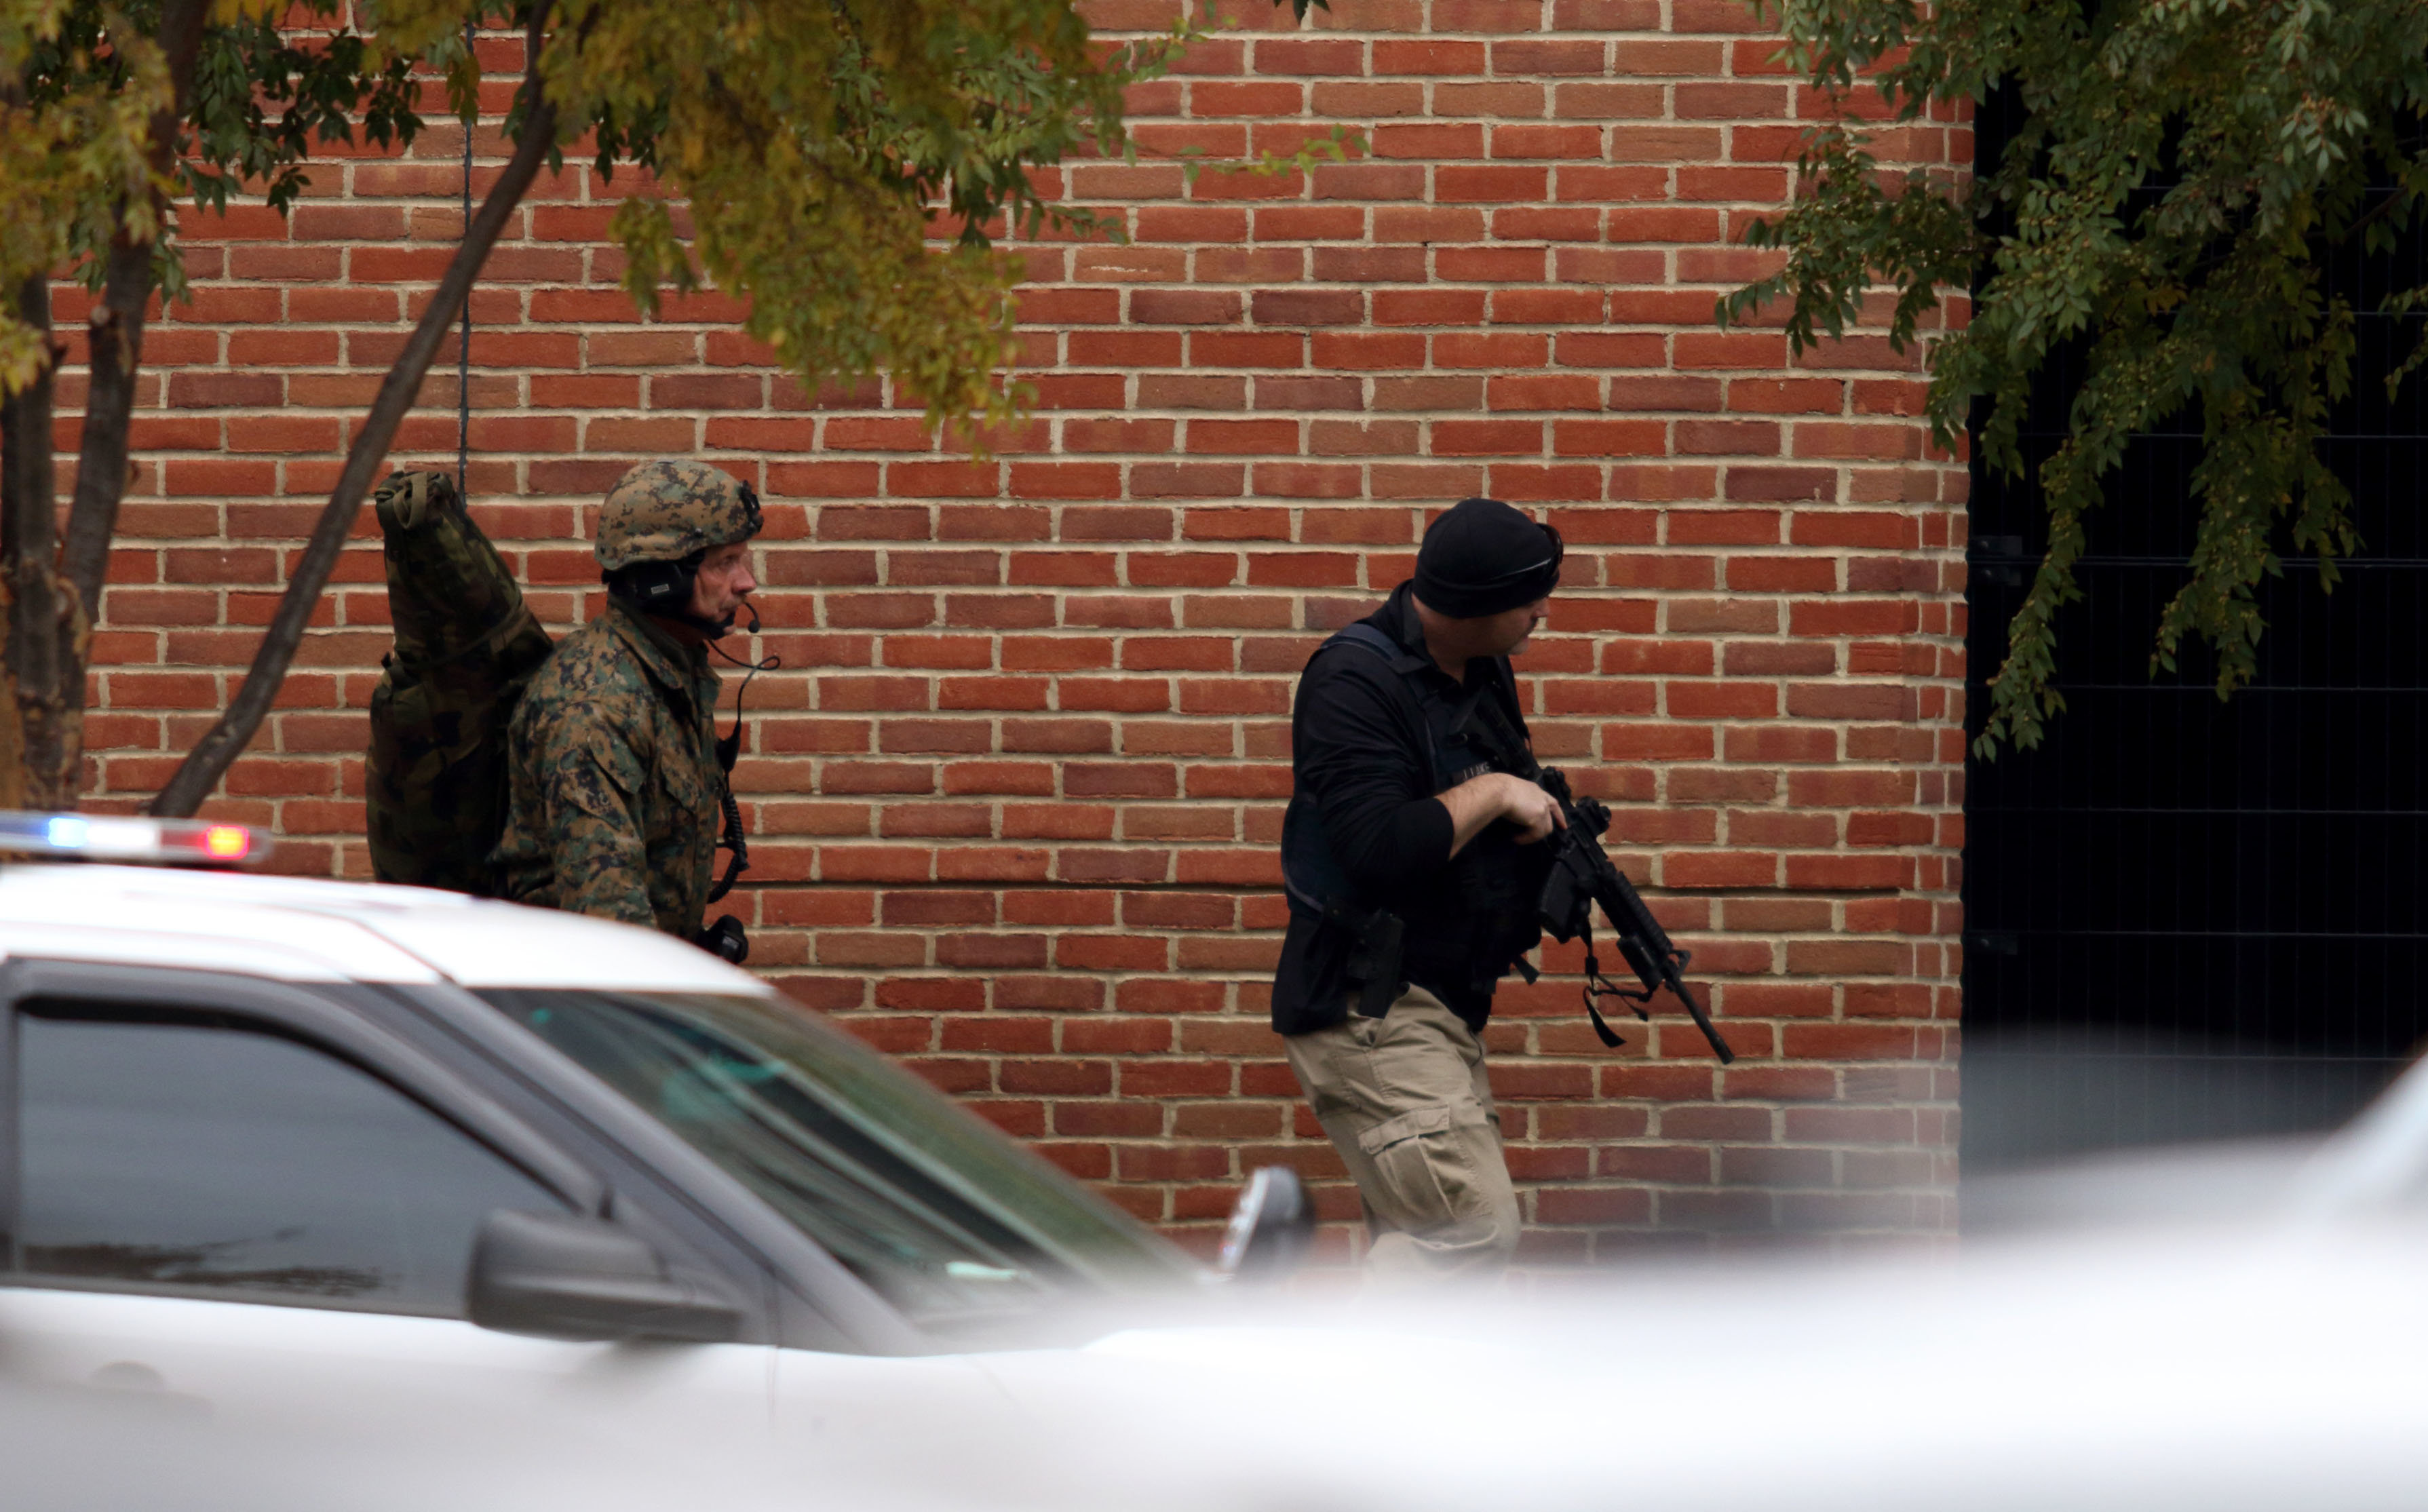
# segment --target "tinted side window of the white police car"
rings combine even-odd
[[[22,1281],[459,1318],[490,1209],[566,1211],[350,1061],[228,1017],[17,1019]]]

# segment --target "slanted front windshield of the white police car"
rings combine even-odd
[[[809,1010],[490,990],[927,1328],[1190,1281],[1170,1243]]]

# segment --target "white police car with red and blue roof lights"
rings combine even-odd
[[[0,815],[0,840],[260,847],[80,815]],[[906,1471],[949,1468],[942,1429],[1005,1422],[976,1347],[1202,1279],[663,934],[420,888],[0,864],[10,1510],[168,1483],[180,1505],[350,1505],[328,1480],[362,1463],[393,1505],[556,1505],[692,1459],[748,1478],[770,1437],[784,1476],[915,1500],[940,1480]],[[464,1483],[396,1459],[415,1444]]]

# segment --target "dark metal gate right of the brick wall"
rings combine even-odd
[[[2037,750],[1967,769],[1967,1172],[2326,1129],[2428,1034],[2428,374],[2387,398],[2416,323],[2370,313],[2423,277],[2418,238],[2333,265],[2362,311],[2328,444],[2362,551],[2331,595],[2287,551],[2260,590],[2260,675],[2231,704],[2205,650],[2149,672],[2192,546],[2197,427],[2139,439],[2088,519],[2086,597],[2059,614],[2066,711]],[[2059,364],[2035,398],[2035,461],[2074,379]],[[1976,733],[2047,517],[1979,466],[1972,498]]]

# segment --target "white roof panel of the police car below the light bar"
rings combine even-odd
[[[0,956],[464,988],[772,988],[658,930],[359,881],[0,864]]]

